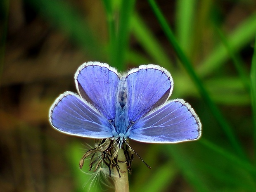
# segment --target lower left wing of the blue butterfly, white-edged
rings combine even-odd
[[[113,137],[109,121],[73,92],[60,95],[50,108],[50,123],[60,132],[102,139]]]

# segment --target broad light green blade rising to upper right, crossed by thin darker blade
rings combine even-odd
[[[229,42],[230,47],[232,47],[232,50],[237,52],[244,47],[244,45],[250,43],[254,38],[255,31],[256,13],[248,17],[230,36],[228,36],[227,41]],[[211,52],[211,54],[199,64],[197,72],[200,74],[200,76],[206,76],[223,65],[228,58],[228,51],[226,50],[225,46],[220,43]]]

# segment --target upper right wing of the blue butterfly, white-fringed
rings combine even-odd
[[[135,122],[166,102],[173,90],[171,74],[157,65],[142,65],[128,72],[128,120]]]

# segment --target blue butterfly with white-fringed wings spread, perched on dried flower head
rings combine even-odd
[[[201,123],[182,99],[168,101],[171,74],[157,65],[118,73],[108,64],[87,62],[75,74],[78,95],[64,92],[50,108],[50,123],[69,135],[147,143],[197,140]]]

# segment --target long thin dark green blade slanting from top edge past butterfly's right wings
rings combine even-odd
[[[230,127],[228,122],[225,120],[224,116],[220,113],[220,110],[218,109],[216,104],[210,98],[208,92],[204,88],[203,83],[201,82],[201,80],[199,79],[197,74],[195,73],[192,64],[187,59],[183,50],[181,50],[180,46],[178,45],[178,42],[173,35],[173,32],[169,28],[168,23],[166,22],[166,19],[164,18],[163,14],[159,10],[158,6],[154,2],[154,0],[148,0],[148,1],[156,15],[156,18],[158,19],[159,23],[161,24],[163,31],[166,34],[166,37],[170,41],[171,45],[173,45],[173,48],[174,48],[178,58],[180,59],[181,63],[184,65],[185,69],[187,70],[187,73],[190,75],[190,77],[194,81],[202,98],[204,99],[206,104],[211,109],[212,114],[215,116],[218,123],[223,128],[223,130],[224,130],[225,134],[227,135],[228,139],[230,140],[232,146],[234,147],[236,152],[239,154],[239,156],[241,156],[243,159],[247,159],[247,157],[244,154],[244,151],[242,149],[242,146],[239,144],[237,138],[235,137],[235,134],[234,134],[232,128]]]

